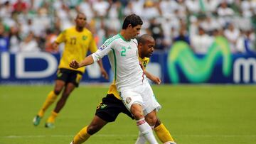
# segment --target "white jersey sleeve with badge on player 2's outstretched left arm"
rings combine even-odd
[[[114,42],[112,43],[107,43],[107,42],[108,41],[106,40],[106,42],[102,46],[100,46],[99,50],[97,50],[95,53],[92,53],[92,58],[94,62],[99,61],[100,59],[102,59],[102,57],[104,57],[111,51],[114,45]]]

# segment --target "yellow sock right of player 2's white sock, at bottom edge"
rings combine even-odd
[[[171,133],[166,129],[163,123],[161,123],[159,126],[156,126],[154,128],[154,131],[156,132],[157,137],[159,140],[161,140],[162,143],[166,142],[174,142],[174,139],[171,137]]]

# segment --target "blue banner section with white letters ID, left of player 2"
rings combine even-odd
[[[0,53],[0,84],[52,83],[58,69],[60,55],[47,52]],[[111,75],[110,63],[103,58],[104,67]],[[109,82],[100,73],[97,63],[86,67],[82,82]]]

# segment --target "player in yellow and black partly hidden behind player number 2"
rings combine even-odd
[[[149,57],[154,51],[154,46],[154,38],[152,38],[150,35],[145,34],[138,38],[139,62],[141,62],[143,69],[145,69],[146,65],[149,63]],[[144,70],[144,74],[154,83],[161,83],[161,79],[159,79],[159,77],[155,77],[149,72],[146,72],[146,70]],[[82,128],[79,133],[75,135],[75,138],[73,138],[73,141],[70,144],[80,144],[85,142],[90,135],[100,131],[100,129],[107,123],[115,121],[119,113],[125,113],[127,116],[134,119],[132,114],[122,103],[122,100],[117,92],[117,87],[115,86],[114,82],[112,82],[110,89],[107,92],[107,96],[105,96],[102,99],[102,102],[97,106],[95,117],[92,119],[90,125]],[[146,121],[152,128],[154,128],[156,135],[162,143],[176,144],[164,124],[159,121],[159,118],[157,118],[156,122],[151,118],[146,118]],[[139,135],[136,144],[144,143],[146,143],[146,140],[142,135]]]

